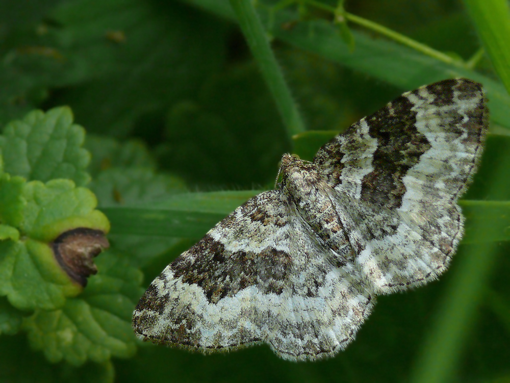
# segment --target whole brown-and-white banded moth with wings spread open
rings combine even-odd
[[[481,85],[445,80],[354,123],[312,162],[284,155],[274,190],[152,282],[136,334],[201,352],[264,342],[292,361],[335,355],[377,295],[446,270],[487,130]]]

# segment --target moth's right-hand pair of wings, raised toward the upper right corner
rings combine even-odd
[[[464,231],[456,201],[487,129],[481,85],[445,80],[404,93],[319,150],[314,162],[329,185],[362,206],[351,209],[365,242],[357,262],[375,291],[446,269]]]

